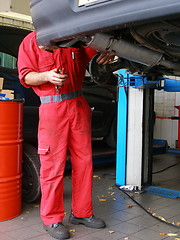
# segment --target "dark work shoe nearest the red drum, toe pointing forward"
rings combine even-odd
[[[56,239],[70,238],[69,231],[65,228],[65,226],[61,222],[54,223],[51,225],[44,225],[44,229],[53,238]]]

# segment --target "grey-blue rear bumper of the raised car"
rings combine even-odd
[[[88,1],[86,1],[88,2]],[[180,13],[178,0],[31,0],[39,45],[47,46],[99,31],[122,29]]]

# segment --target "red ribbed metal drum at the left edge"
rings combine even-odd
[[[22,209],[22,101],[0,101],[0,221]]]

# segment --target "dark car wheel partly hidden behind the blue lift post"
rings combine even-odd
[[[111,148],[116,148],[117,143],[117,119],[114,118],[112,121],[112,125],[109,131],[108,136],[105,139],[107,145]]]

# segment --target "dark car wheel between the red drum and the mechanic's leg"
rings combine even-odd
[[[36,202],[40,199],[40,160],[37,149],[30,144],[23,148],[22,196],[25,202]]]

